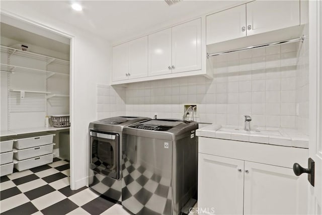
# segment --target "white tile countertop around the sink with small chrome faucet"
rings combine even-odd
[[[244,129],[238,129],[237,127],[222,127],[221,125],[211,124],[197,129],[196,135],[308,149],[308,136],[291,128],[260,128],[245,131]]]

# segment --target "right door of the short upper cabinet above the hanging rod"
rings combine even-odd
[[[300,1],[255,1],[246,4],[247,35],[300,25]]]

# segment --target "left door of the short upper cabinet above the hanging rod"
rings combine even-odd
[[[246,36],[246,5],[234,7],[206,18],[206,44]]]

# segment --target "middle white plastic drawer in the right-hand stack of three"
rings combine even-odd
[[[21,161],[29,158],[34,158],[37,156],[51,154],[53,146],[55,144],[44,145],[40,147],[28,148],[24,150],[15,150],[14,158],[15,160]]]

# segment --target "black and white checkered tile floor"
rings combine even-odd
[[[69,188],[69,162],[53,163],[1,177],[1,214],[129,214],[88,187]]]

